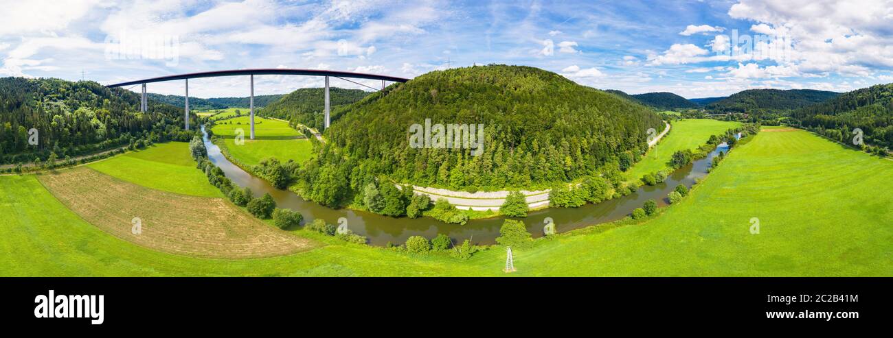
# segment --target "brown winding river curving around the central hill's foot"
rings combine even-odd
[[[202,126],[202,132],[204,133],[204,126]],[[290,191],[276,189],[262,178],[254,177],[238,168],[223,156],[216,144],[211,143],[207,133],[204,133],[204,146],[207,147],[208,158],[220,167],[236,185],[249,187],[255,196],[264,193],[271,194],[278,207],[300,212],[304,215],[304,222],[323,218],[337,226],[338,218],[346,218],[347,227],[356,234],[368,237],[371,245],[405,243],[406,239],[412,235],[433,238],[438,234],[448,235],[457,243],[471,239],[473,243],[491,244],[496,243],[499,227],[502,226],[505,219],[504,217],[472,219],[465,225],[458,225],[443,223],[427,217],[391,218],[360,210],[334,210],[315,202],[305,201]],[[517,219],[521,219],[527,225],[528,231],[534,237],[540,237],[543,235],[546,218],[552,218],[556,230],[564,232],[624,218],[630,215],[632,210],[640,208],[647,200],[653,199],[657,201],[658,206],[663,207],[667,205],[666,195],[672,192],[676,185],[683,184],[691,187],[698,178],[706,176],[707,169],[715,156],[720,152],[728,153],[728,151],[729,147],[726,144],[720,144],[704,159],[694,161],[692,164],[674,171],[665,182],[658,185],[644,185],[634,194],[597,204],[586,204],[580,208],[536,210],[528,213],[527,218]]]

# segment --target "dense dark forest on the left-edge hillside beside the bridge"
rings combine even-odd
[[[140,142],[187,141],[183,110],[93,81],[0,78],[0,162],[63,159]],[[192,119],[196,119],[193,116]],[[29,144],[29,130],[37,144]]]

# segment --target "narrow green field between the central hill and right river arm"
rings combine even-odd
[[[672,123],[670,132],[663,136],[641,161],[624,173],[629,181],[638,180],[645,174],[668,168],[667,162],[672,159],[672,154],[680,150],[691,149],[706,144],[712,135],[725,133],[730,128],[739,127],[739,122],[727,122],[721,120],[678,120]]]

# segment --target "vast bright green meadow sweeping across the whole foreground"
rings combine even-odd
[[[891,276],[893,196],[875,194],[890,190],[893,161],[805,131],[762,132],[655,218],[538,240],[515,251],[510,276]],[[0,177],[0,213],[3,276],[505,276],[498,248],[455,260],[305,230],[294,234],[328,245],[252,260],[150,251],[85,223],[33,176]]]

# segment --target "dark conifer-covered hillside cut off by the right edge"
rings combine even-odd
[[[844,93],[791,112],[791,120],[824,136],[848,141],[853,129],[867,144],[893,148],[893,84]]]

